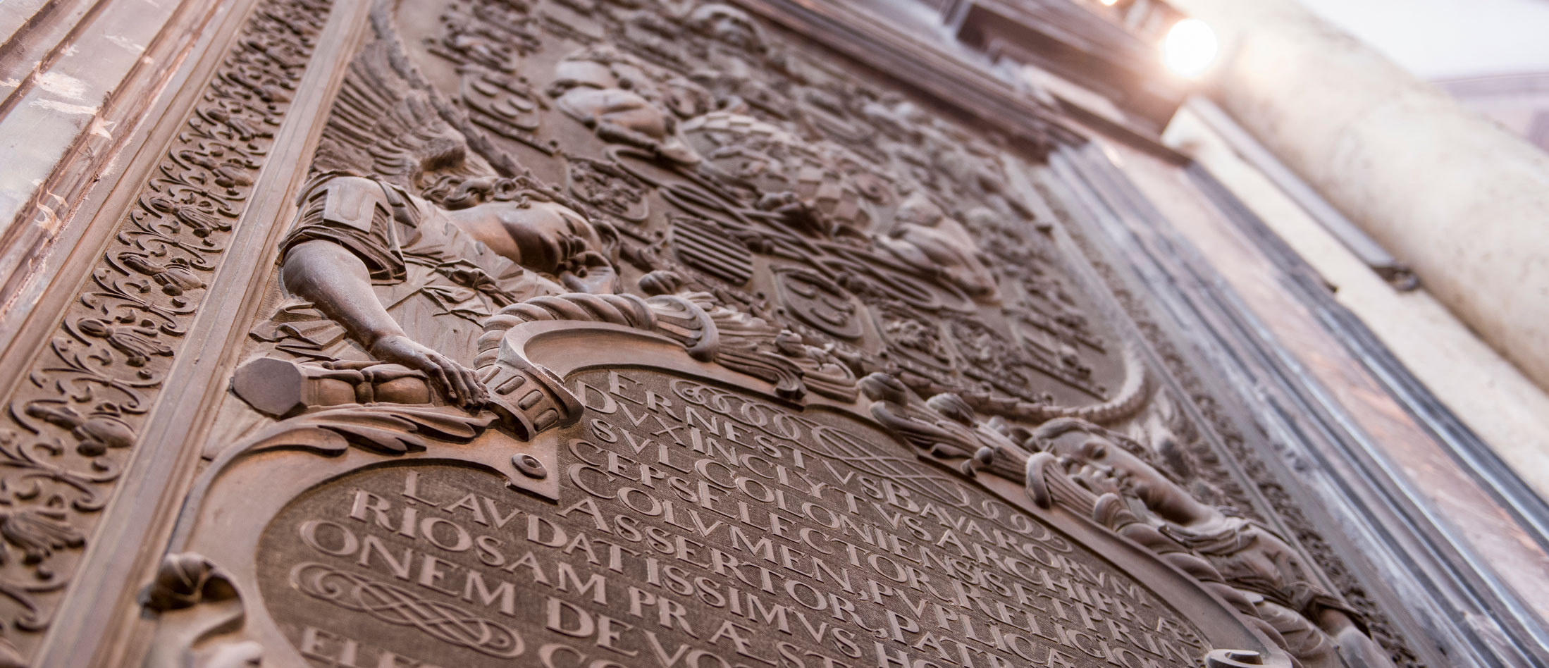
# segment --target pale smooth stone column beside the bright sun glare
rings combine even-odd
[[[1173,6],[1222,39],[1219,104],[1549,389],[1549,153],[1295,0]]]

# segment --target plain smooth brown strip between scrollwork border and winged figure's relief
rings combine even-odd
[[[132,462],[130,474],[118,491],[118,504],[108,508],[104,522],[102,544],[139,544],[135,560],[110,560],[104,556],[99,567],[90,570],[91,587],[81,587],[71,611],[70,623],[87,629],[104,629],[96,645],[64,639],[73,635],[56,631],[57,654],[46,663],[88,665],[105,663],[110,657],[141,656],[150,642],[144,620],[135,612],[132,600],[135,584],[149,581],[160,561],[160,546],[164,546],[183,505],[183,498],[197,474],[200,454],[198,436],[214,420],[214,405],[226,389],[240,350],[239,341],[246,335],[239,330],[254,318],[268,285],[268,273],[274,267],[279,237],[294,215],[294,192],[307,177],[307,166],[322,133],[324,118],[333,105],[333,98],[344,79],[350,56],[364,37],[369,22],[366,14],[372,3],[335,3],[333,0],[266,0],[254,12],[245,28],[240,43],[252,43],[254,36],[273,31],[273,11],[310,12],[313,36],[305,67],[290,93],[288,112],[273,129],[273,143],[262,170],[252,181],[252,192],[263,192],[242,212],[231,248],[218,273],[211,281],[204,302],[191,325],[180,358],[167,372],[166,391],[160,397],[141,440],[156,443],[144,449]],[[314,50],[314,53],[311,53]],[[252,250],[252,251],[246,251]],[[87,584],[87,583],[82,583]],[[91,604],[91,589],[99,595],[113,595],[113,606]],[[116,635],[115,635],[116,634]]]

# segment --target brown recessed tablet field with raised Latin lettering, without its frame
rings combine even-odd
[[[572,380],[561,499],[384,465],[265,529],[260,586],[314,666],[1196,665],[1101,556],[864,423],[666,374]]]

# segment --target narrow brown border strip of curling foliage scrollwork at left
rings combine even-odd
[[[327,0],[268,0],[243,28],[0,423],[8,646],[46,628],[209,277],[246,208]],[[20,659],[15,659],[20,660]]]

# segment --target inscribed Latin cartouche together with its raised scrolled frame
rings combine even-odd
[[[895,391],[863,401],[878,425],[855,398],[782,400],[624,324],[513,327],[503,346],[545,361],[586,418],[516,440],[367,405],[277,422],[212,462],[175,538],[203,556],[169,558],[150,592],[158,643],[183,642],[166,659],[1292,665],[1139,547],[942,467],[957,449],[911,453],[888,415],[936,409],[897,405],[895,381],[867,380]],[[643,355],[658,369],[627,366]],[[344,429],[389,411],[417,420],[395,429],[415,443]],[[260,525],[212,522],[231,513]]]

